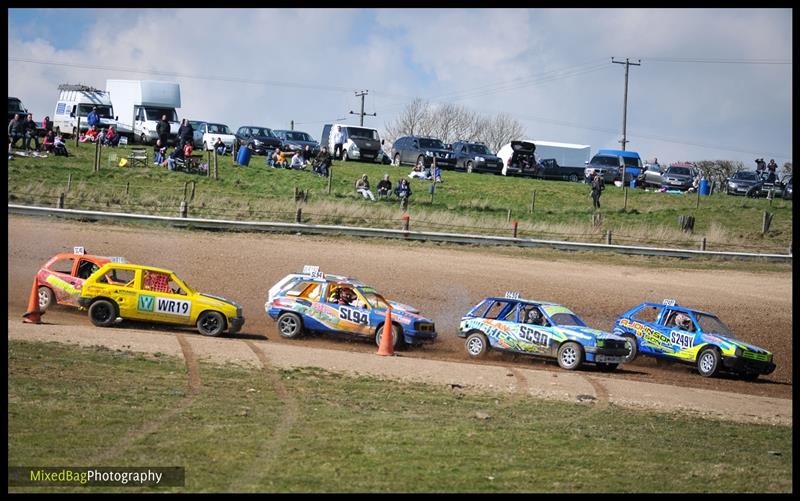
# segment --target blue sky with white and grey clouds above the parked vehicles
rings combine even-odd
[[[8,91],[181,87],[179,118],[319,139],[413,99],[516,118],[526,139],[676,161],[792,161],[791,9],[8,9]],[[113,99],[112,99],[113,102]],[[119,114],[120,110],[116,110]]]

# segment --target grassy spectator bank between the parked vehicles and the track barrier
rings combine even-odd
[[[301,207],[304,222],[400,228],[397,201],[365,201],[354,192],[354,181],[366,173],[374,191],[384,173],[395,183],[410,170],[335,162],[328,193],[327,179],[268,168],[265,157],[253,157],[246,168],[233,166],[230,156],[220,157],[220,179],[213,181],[160,168],[120,168],[109,161],[109,154],[126,157],[126,148],[102,150],[101,171],[93,173],[94,146],[73,144],[71,152],[76,154],[68,159],[15,157],[8,167],[8,201],[55,205],[65,193],[67,208],[178,215],[187,194],[190,216],[293,221],[296,207]],[[152,154],[150,148],[148,152]],[[189,181],[196,183],[193,197]],[[601,199],[602,223],[595,226],[589,188],[582,183],[445,172],[433,197],[430,182],[415,179],[411,184],[409,213],[417,230],[510,236],[511,221],[518,220],[521,237],[602,242],[611,230],[613,243],[619,244],[698,248],[706,237],[709,250],[779,253],[792,240],[792,202],[784,200],[714,194],[701,197],[696,208],[694,194],[627,190],[626,203],[624,190],[609,186]],[[310,192],[306,203],[295,202],[295,188]],[[765,210],[774,218],[762,236]],[[695,217],[694,234],[679,230],[680,215]]]

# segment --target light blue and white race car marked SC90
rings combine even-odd
[[[471,357],[489,348],[555,358],[564,369],[584,362],[613,371],[628,355],[625,339],[587,327],[565,306],[520,299],[518,293],[487,297],[462,319],[458,336]]]

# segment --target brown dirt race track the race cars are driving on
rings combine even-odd
[[[792,277],[788,272],[625,267],[587,264],[571,260],[568,253],[553,259],[535,257],[530,251],[501,254],[491,247],[214,233],[18,216],[9,216],[8,223],[9,322],[20,321],[25,312],[36,270],[55,253],[71,251],[74,245],[94,254],[122,255],[133,263],[172,269],[195,289],[240,302],[246,323],[237,337],[374,353],[375,345],[365,341],[317,335],[285,340],[277,334],[275,323],[264,312],[267,289],[287,273],[316,264],[322,271],[374,285],[387,297],[416,306],[436,321],[437,342],[407,349],[403,357],[510,369],[563,372],[554,361],[496,352],[482,361],[468,359],[464,342],[455,332],[461,315],[487,295],[514,290],[523,297],[563,303],[589,325],[606,330],[617,315],[639,302],[669,297],[719,315],[743,340],[772,351],[777,370],[756,382],[730,376],[706,379],[689,366],[639,358],[610,377],[792,397]],[[48,311],[44,320],[53,325],[90,325],[85,312],[64,307]],[[585,369],[589,374],[593,371],[593,367]]]

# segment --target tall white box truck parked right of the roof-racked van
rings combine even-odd
[[[170,123],[169,142],[178,137],[181,88],[177,82],[158,80],[106,80],[106,91],[119,114],[119,132],[142,144],[158,139],[156,125],[166,115]]]

